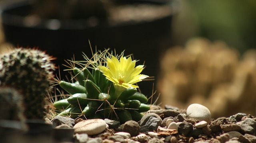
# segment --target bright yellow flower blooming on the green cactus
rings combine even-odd
[[[122,86],[123,88],[138,88],[134,85],[137,82],[147,78],[147,75],[140,74],[144,69],[144,65],[135,67],[136,60],[132,61],[131,57],[121,56],[120,62],[114,56],[107,58],[107,66],[99,66],[99,69],[106,76],[106,78],[114,83],[114,86]],[[117,87],[120,88],[120,87]]]

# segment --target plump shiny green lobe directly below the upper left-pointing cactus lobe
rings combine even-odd
[[[91,100],[87,98],[85,93],[76,93],[68,97],[67,101],[73,106],[86,106]]]

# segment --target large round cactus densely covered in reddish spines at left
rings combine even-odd
[[[0,55],[1,86],[10,86],[21,91],[25,116],[28,119],[43,119],[45,94],[53,76],[52,57],[38,49],[16,48]]]

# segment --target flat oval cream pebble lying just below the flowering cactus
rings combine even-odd
[[[87,119],[76,123],[74,129],[74,133],[97,135],[106,129],[106,122],[103,119]]]

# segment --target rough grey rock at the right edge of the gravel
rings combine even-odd
[[[255,135],[256,121],[252,118],[246,118],[244,121],[237,122],[236,124],[241,127],[242,134]]]

